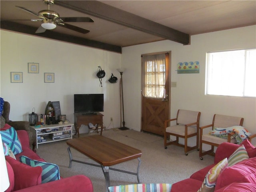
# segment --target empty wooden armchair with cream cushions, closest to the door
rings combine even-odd
[[[166,149],[168,145],[174,144],[177,146],[184,147],[185,155],[188,155],[188,151],[193,149],[198,149],[199,146],[199,120],[200,112],[181,110],[177,112],[177,117],[175,119],[169,119],[164,121],[164,148]],[[171,121],[176,121],[176,125],[170,126]],[[172,142],[167,142],[167,138],[176,136],[176,140]],[[196,136],[196,146],[188,146],[188,138]],[[184,145],[179,144],[179,137],[184,138]]]

